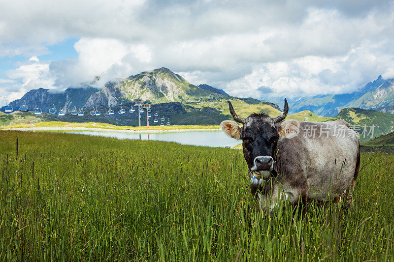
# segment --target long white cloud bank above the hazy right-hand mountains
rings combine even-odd
[[[240,96],[270,98],[298,97],[328,93],[347,93],[377,78],[394,77],[394,55],[379,51],[380,45],[352,49],[337,57],[309,56],[288,61],[263,63],[251,74],[227,84]],[[259,93],[259,87],[271,87],[271,93]]]

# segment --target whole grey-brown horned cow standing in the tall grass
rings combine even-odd
[[[302,211],[308,200],[326,203],[346,196],[345,203],[351,204],[360,142],[345,120],[284,120],[289,111],[286,99],[280,116],[253,113],[242,118],[228,102],[236,122],[225,120],[220,125],[231,138],[242,140],[251,193],[264,214],[284,199],[301,204]]]

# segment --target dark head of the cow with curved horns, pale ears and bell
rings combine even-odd
[[[228,102],[232,118],[243,126],[240,127],[238,123],[231,120],[223,121],[220,126],[230,137],[242,140],[243,154],[251,179],[251,191],[255,194],[263,179],[267,179],[273,171],[278,142],[288,136],[289,125],[298,128],[298,121],[288,120],[282,122],[279,127],[275,126],[275,123],[284,120],[287,116],[289,106],[286,99],[282,114],[273,118],[263,113],[254,113],[247,118],[241,118],[235,113],[230,101]],[[263,179],[260,179],[261,177]]]

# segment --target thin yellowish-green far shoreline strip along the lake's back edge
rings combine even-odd
[[[191,129],[168,129],[168,130],[121,130],[95,127],[16,127],[2,128],[0,131],[98,131],[98,132],[121,132],[121,133],[171,133],[171,132],[195,132],[195,131],[218,131],[220,128],[191,128]]]

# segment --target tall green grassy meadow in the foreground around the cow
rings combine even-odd
[[[264,217],[241,150],[0,131],[0,261],[394,261],[394,156],[364,164],[351,208]]]

